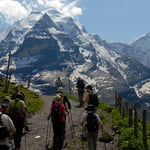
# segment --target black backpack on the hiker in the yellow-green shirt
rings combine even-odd
[[[11,118],[11,120],[13,121],[14,125],[16,126],[17,124],[21,123],[22,117],[21,117],[21,112],[20,110],[16,107],[16,104],[19,101],[15,101],[15,104],[13,107],[9,108],[8,111],[8,116]]]

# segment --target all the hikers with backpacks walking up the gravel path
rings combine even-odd
[[[55,85],[56,92],[47,117],[53,127],[53,144],[47,149],[62,150],[65,147],[66,119],[71,113],[71,103],[64,94],[64,84],[60,77],[57,78]],[[79,105],[76,107],[85,109],[80,118],[82,140],[88,142],[88,150],[96,150],[98,130],[103,127],[97,113],[98,96],[91,85],[85,86],[84,80],[80,77],[77,79],[76,88],[79,96]],[[29,131],[26,113],[25,95],[16,86],[12,97],[6,96],[0,105],[0,150],[9,150],[10,135],[14,140],[13,150],[20,150],[23,131]],[[7,130],[8,134],[4,130]]]

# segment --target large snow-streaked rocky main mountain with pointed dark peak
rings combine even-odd
[[[11,51],[12,81],[25,84],[30,77],[31,88],[50,94],[60,76],[65,90],[70,83],[75,93],[80,76],[86,85],[94,87],[100,100],[109,104],[114,104],[115,91],[130,102],[149,98],[141,91],[142,86],[150,83],[149,68],[114,51],[113,44],[88,34],[81,24],[54,9],[32,12],[3,33],[0,72],[5,75]]]

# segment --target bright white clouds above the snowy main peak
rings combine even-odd
[[[67,16],[76,17],[82,14],[77,7],[78,0],[0,0],[0,20],[12,24],[26,17],[32,10],[46,10],[54,7]]]

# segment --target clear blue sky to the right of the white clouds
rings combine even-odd
[[[80,23],[108,42],[130,42],[150,32],[150,0],[81,0],[79,6]]]

